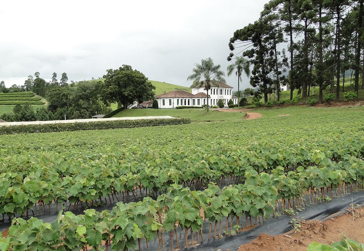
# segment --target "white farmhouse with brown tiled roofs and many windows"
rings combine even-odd
[[[217,101],[222,99],[225,107],[230,99],[234,104],[238,103],[238,98],[232,94],[230,85],[219,83],[219,87],[211,85],[209,90],[209,105],[217,105]],[[192,93],[186,91],[170,91],[155,97],[158,101],[159,108],[175,108],[177,106],[196,106],[201,107],[207,104],[207,91],[205,86],[192,88]]]

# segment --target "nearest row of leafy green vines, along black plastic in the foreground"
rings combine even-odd
[[[188,247],[188,231],[203,241],[202,225],[209,220],[213,237],[221,235],[221,222],[226,217],[226,231],[232,230],[233,219],[240,223],[240,217],[248,218],[252,224],[252,217],[264,221],[276,214],[275,205],[278,200],[287,201],[282,204],[294,207],[297,204],[308,203],[303,199],[305,194],[328,196],[345,194],[355,184],[362,187],[364,178],[363,160],[352,156],[344,156],[339,163],[331,162],[328,166],[323,163],[329,161],[315,155],[317,166],[304,169],[297,168],[297,172],[278,167],[271,174],[255,170],[245,172],[243,184],[233,184],[222,188],[209,184],[204,191],[191,191],[181,185],[172,184],[166,194],[158,196],[157,200],[150,197],[137,203],[116,204],[112,211],[96,212],[93,209],[84,211],[84,215],[74,215],[72,212],[60,212],[58,219],[50,223],[36,218],[25,221],[15,218],[9,228],[9,247],[13,250],[86,250],[88,246],[94,250],[134,250],[141,240],[158,238],[164,250],[163,234],[170,235],[170,241],[179,247],[176,229],[185,230],[184,247]],[[330,162],[329,162],[330,163]],[[291,203],[292,202],[292,203]],[[315,203],[310,200],[310,203]],[[293,205],[293,206],[292,206]],[[161,217],[162,216],[162,217]],[[162,220],[163,219],[163,220]],[[229,224],[230,219],[230,224]],[[219,224],[218,224],[219,223]],[[218,234],[217,234],[218,232]],[[193,243],[193,239],[191,240]],[[182,245],[182,244],[181,244]],[[41,248],[41,249],[39,249]]]

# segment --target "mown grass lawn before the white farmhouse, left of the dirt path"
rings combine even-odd
[[[191,121],[241,120],[245,112],[219,112],[205,109],[125,109],[113,117],[173,116],[188,117]]]

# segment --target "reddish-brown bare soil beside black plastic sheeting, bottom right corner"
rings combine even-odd
[[[241,245],[238,251],[306,251],[312,242],[330,245],[343,238],[364,243],[364,208],[360,208],[360,214],[353,216],[350,213],[320,221],[307,221],[301,224],[301,230],[290,231],[285,235],[260,234],[252,242]]]

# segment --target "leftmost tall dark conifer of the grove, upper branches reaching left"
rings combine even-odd
[[[260,91],[264,93],[264,103],[268,101],[269,87],[273,83],[269,74],[274,71],[273,65],[268,64],[269,59],[274,55],[273,43],[270,38],[276,26],[270,18],[271,16],[260,18],[253,24],[238,29],[229,42],[231,51],[243,47],[242,56],[248,57],[254,65],[250,84],[253,87],[260,87]],[[230,53],[227,60],[230,61],[233,56],[234,53]]]

